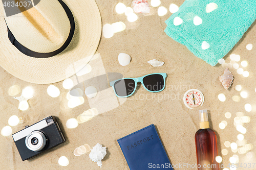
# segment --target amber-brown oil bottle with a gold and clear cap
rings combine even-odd
[[[198,170],[219,170],[217,137],[209,128],[207,110],[200,110],[200,129],[195,134]]]

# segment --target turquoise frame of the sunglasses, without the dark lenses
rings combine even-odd
[[[145,85],[144,85],[144,83],[143,83],[143,78],[144,78],[144,77],[147,77],[147,76],[150,76],[150,75],[161,75],[161,76],[163,77],[164,85],[163,85],[163,88],[162,88],[161,90],[158,90],[158,91],[151,91],[151,90],[148,90],[148,89],[145,87]],[[153,74],[150,74],[150,75],[145,75],[145,76],[142,76],[142,77],[139,77],[139,78],[123,78],[123,79],[118,79],[118,80],[115,80],[115,81],[110,82],[110,86],[113,87],[113,89],[114,89],[114,91],[115,91],[115,94],[116,94],[116,96],[118,96],[118,98],[127,98],[127,97],[133,95],[133,93],[136,91],[136,87],[137,87],[137,83],[138,83],[138,82],[140,82],[140,83],[142,84],[142,86],[143,86],[147,91],[149,91],[149,92],[155,93],[155,92],[163,91],[164,88],[165,88],[165,79],[166,79],[166,77],[167,77],[167,74],[161,72],[161,73],[153,73]],[[116,83],[117,81],[119,81],[119,80],[125,80],[125,79],[132,79],[132,80],[134,80],[134,82],[135,82],[135,88],[134,88],[134,90],[133,90],[133,92],[132,92],[131,94],[126,95],[126,96],[119,96],[119,95],[117,95],[117,93],[116,93],[116,90],[115,90],[114,85],[115,85],[115,83]]]

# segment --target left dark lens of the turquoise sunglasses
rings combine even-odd
[[[116,94],[123,97],[130,95],[135,88],[135,82],[132,79],[122,79],[115,83],[114,85]]]

